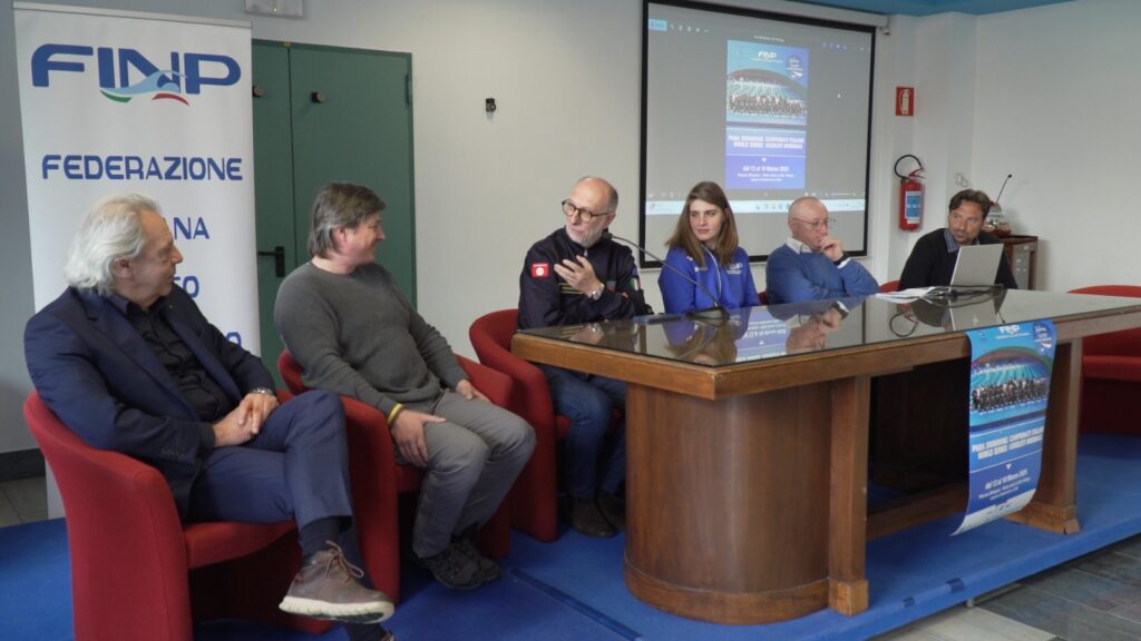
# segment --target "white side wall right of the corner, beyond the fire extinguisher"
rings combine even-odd
[[[979,21],[972,164],[1014,175],[1003,211],[1041,238],[1039,289],[1141,284],[1139,27],[1134,0]]]

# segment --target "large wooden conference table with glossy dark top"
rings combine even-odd
[[[825,607],[853,615],[868,607],[867,539],[965,508],[964,330],[1054,322],[1042,474],[1034,501],[1010,518],[1079,527],[1081,339],[1141,326],[1141,300],[1010,291],[974,301],[869,298],[843,309],[825,301],[728,319],[547,327],[517,333],[512,351],[629,383],[625,581],[634,595],[730,624]],[[884,482],[907,493],[869,513],[873,423],[873,474],[882,468]],[[930,482],[946,472],[939,449],[962,464],[946,484]],[[912,456],[933,463],[929,482],[898,473]]]

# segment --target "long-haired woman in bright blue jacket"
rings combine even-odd
[[[717,182],[698,182],[689,190],[678,226],[666,245],[670,248],[665,255],[667,265],[657,277],[666,313],[717,305],[726,309],[760,305],[753,273],[748,269],[748,252],[737,246],[737,222],[729,200]],[[699,282],[704,289],[681,274]]]

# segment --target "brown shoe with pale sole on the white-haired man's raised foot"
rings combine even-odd
[[[393,616],[393,600],[357,583],[364,571],[345,560],[335,543],[330,541],[327,545],[301,560],[301,569],[278,608],[345,623],[380,623]]]

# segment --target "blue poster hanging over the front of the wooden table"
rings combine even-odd
[[[1034,497],[1057,334],[1050,320],[1001,325],[971,339],[970,494],[954,534],[1018,512]]]

